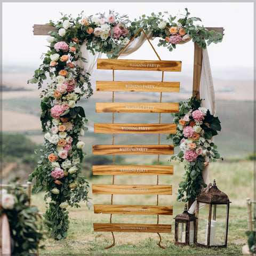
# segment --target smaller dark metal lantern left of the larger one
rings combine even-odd
[[[195,214],[188,213],[187,204],[184,211],[175,218],[175,244],[189,245],[195,243],[196,237],[196,217]]]

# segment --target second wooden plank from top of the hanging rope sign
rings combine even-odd
[[[96,81],[96,91],[179,92],[180,82]]]

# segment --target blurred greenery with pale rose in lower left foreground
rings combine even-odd
[[[29,206],[28,195],[21,186],[8,187],[0,191],[0,215],[6,214],[14,241],[12,255],[28,255],[36,252],[43,237],[42,217],[36,206]]]

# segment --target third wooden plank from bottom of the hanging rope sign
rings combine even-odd
[[[92,194],[172,195],[172,185],[92,185]]]

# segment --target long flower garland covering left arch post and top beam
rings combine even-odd
[[[87,120],[84,109],[77,103],[82,97],[90,98],[93,90],[90,74],[76,65],[78,60],[86,62],[80,52],[81,45],[85,44],[93,54],[102,52],[115,59],[141,28],[153,37],[162,38],[158,46],[167,47],[169,51],[190,39],[203,48],[206,42],[208,45],[221,42],[220,33],[195,25],[201,19],[189,17],[190,13],[185,10],[186,14],[179,19],[159,12],[130,21],[127,15],[109,11],[108,15],[98,13],[89,17],[81,12],[76,19],[62,14],[59,21],[49,22],[57,31],[47,37],[50,50],[42,55],[42,65],[28,81],[38,84],[42,90],[41,122],[45,132],[44,149],[37,150],[41,151],[41,161],[29,181],[36,180],[33,193],[46,191],[44,216],[52,237],[67,237],[68,206],[79,207],[78,203],[85,201],[90,207],[89,182],[81,168],[84,142],[79,139],[87,130],[84,125]],[[47,77],[51,82],[43,86]]]

